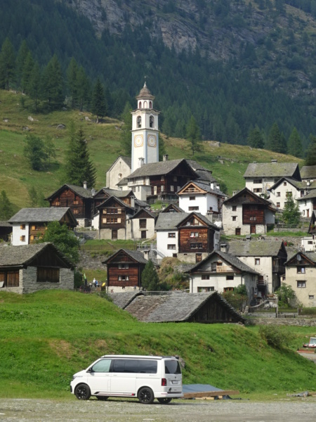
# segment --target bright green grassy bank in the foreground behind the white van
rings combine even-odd
[[[315,391],[316,366],[294,351],[315,334],[294,331],[274,350],[258,328],[238,324],[145,324],[98,295],[0,293],[0,397],[72,397],[72,374],[102,354],[178,354],[183,382],[239,390],[242,397]],[[249,396],[250,395],[250,396]]]

